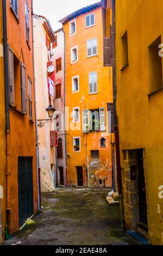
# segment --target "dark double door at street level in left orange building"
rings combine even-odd
[[[21,226],[33,215],[33,157],[18,157],[18,216]]]

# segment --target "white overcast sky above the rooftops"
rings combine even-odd
[[[43,15],[51,22],[53,30],[62,27],[58,21],[82,7],[98,0],[34,0],[34,13]]]

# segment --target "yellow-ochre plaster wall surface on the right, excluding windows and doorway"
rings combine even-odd
[[[125,169],[122,150],[145,148],[148,235],[153,245],[163,245],[163,199],[159,190],[163,185],[163,101],[162,90],[148,97],[148,46],[160,35],[162,40],[162,9],[161,0],[156,3],[137,0],[132,4],[130,0],[116,1],[117,115],[121,167]],[[129,65],[121,72],[121,36],[126,30]]]

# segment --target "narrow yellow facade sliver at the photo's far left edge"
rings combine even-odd
[[[4,237],[5,226],[5,97],[4,97],[4,59],[3,59],[3,23],[2,23],[2,1],[0,3],[0,147],[1,147],[1,166],[0,166],[0,244]]]

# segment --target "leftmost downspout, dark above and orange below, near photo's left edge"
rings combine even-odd
[[[10,185],[11,185],[11,170],[10,170],[10,113],[9,113],[9,76],[8,76],[8,37],[7,37],[7,4],[6,0],[2,1],[3,8],[3,53],[4,53],[4,84],[5,84],[5,122],[6,122],[6,155],[7,155],[7,204],[6,204],[6,225],[5,238],[9,240],[8,225],[10,225]]]

